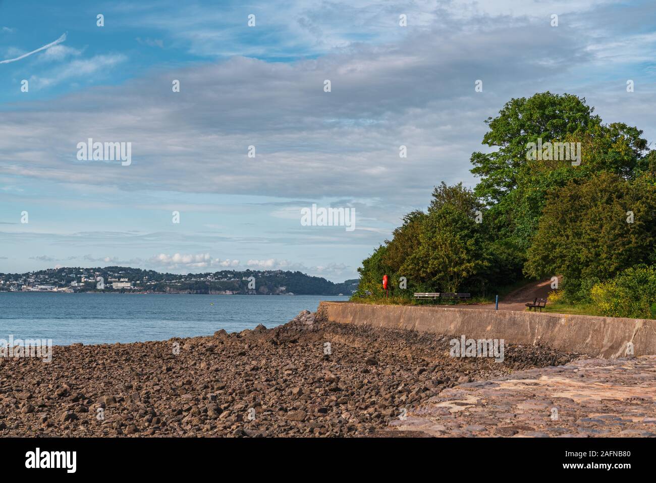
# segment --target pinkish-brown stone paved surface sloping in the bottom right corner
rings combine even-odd
[[[579,360],[461,384],[390,426],[443,437],[653,437],[656,356]]]

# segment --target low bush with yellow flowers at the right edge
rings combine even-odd
[[[656,266],[627,268],[594,285],[590,297],[609,317],[656,318]]]

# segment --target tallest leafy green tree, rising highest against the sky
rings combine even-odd
[[[472,173],[481,177],[476,194],[487,201],[497,232],[523,261],[544,208],[546,194],[572,179],[616,173],[631,179],[648,169],[642,131],[623,123],[604,125],[584,98],[539,93],[512,99],[487,119],[483,144],[493,152],[472,154]],[[529,143],[581,143],[581,165],[554,159],[527,159]]]

